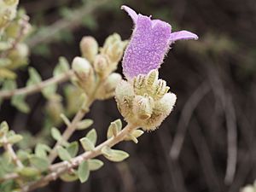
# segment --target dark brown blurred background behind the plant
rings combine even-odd
[[[172,45],[160,78],[177,94],[172,114],[139,143],[121,143],[131,157],[122,163],[101,158],[105,166],[87,183],[57,180],[36,191],[55,192],[236,192],[256,178],[256,2],[255,0],[21,0],[39,32],[27,39],[30,65],[51,77],[59,56],[80,55],[84,35],[99,44],[113,32],[129,39],[133,24],[122,4],[166,20],[172,31],[195,32],[198,41]],[[118,72],[121,73],[121,65]],[[20,70],[20,86],[27,72]],[[4,102],[1,120],[15,131],[36,135],[44,122],[43,96],[28,96],[33,113]],[[108,124],[121,118],[113,99],[95,102],[99,140]],[[64,126],[61,127],[63,131]],[[77,132],[72,137],[82,137]]]

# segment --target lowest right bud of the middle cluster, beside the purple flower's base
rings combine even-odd
[[[122,76],[119,73],[110,74],[97,91],[96,98],[103,100],[114,96],[114,91],[121,80]]]

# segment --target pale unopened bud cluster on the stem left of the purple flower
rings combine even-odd
[[[126,41],[122,41],[119,34],[109,36],[102,48],[96,39],[85,36],[80,42],[82,57],[73,60],[73,70],[76,76],[73,82],[78,85],[87,96],[95,94],[96,99],[104,100],[114,96],[114,90],[122,77],[113,73],[124,53]],[[96,90],[97,82],[101,81]],[[96,91],[95,91],[96,90]]]

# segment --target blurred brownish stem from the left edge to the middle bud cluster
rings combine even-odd
[[[0,91],[0,98],[1,99],[7,99],[12,96],[18,96],[18,95],[31,95],[33,93],[36,93],[40,90],[43,90],[45,87],[49,86],[50,84],[59,84],[61,82],[66,81],[67,79],[70,79],[70,77],[73,75],[73,71],[70,70],[67,73],[63,73],[57,77],[53,77],[51,79],[47,79],[45,81],[40,82],[39,84],[33,84],[28,87],[20,88],[17,90],[3,90]]]

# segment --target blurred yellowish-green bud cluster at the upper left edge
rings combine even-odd
[[[32,27],[23,11],[16,14],[17,3],[16,0],[0,2],[0,79],[15,79],[15,69],[28,64],[29,49],[23,40]]]

